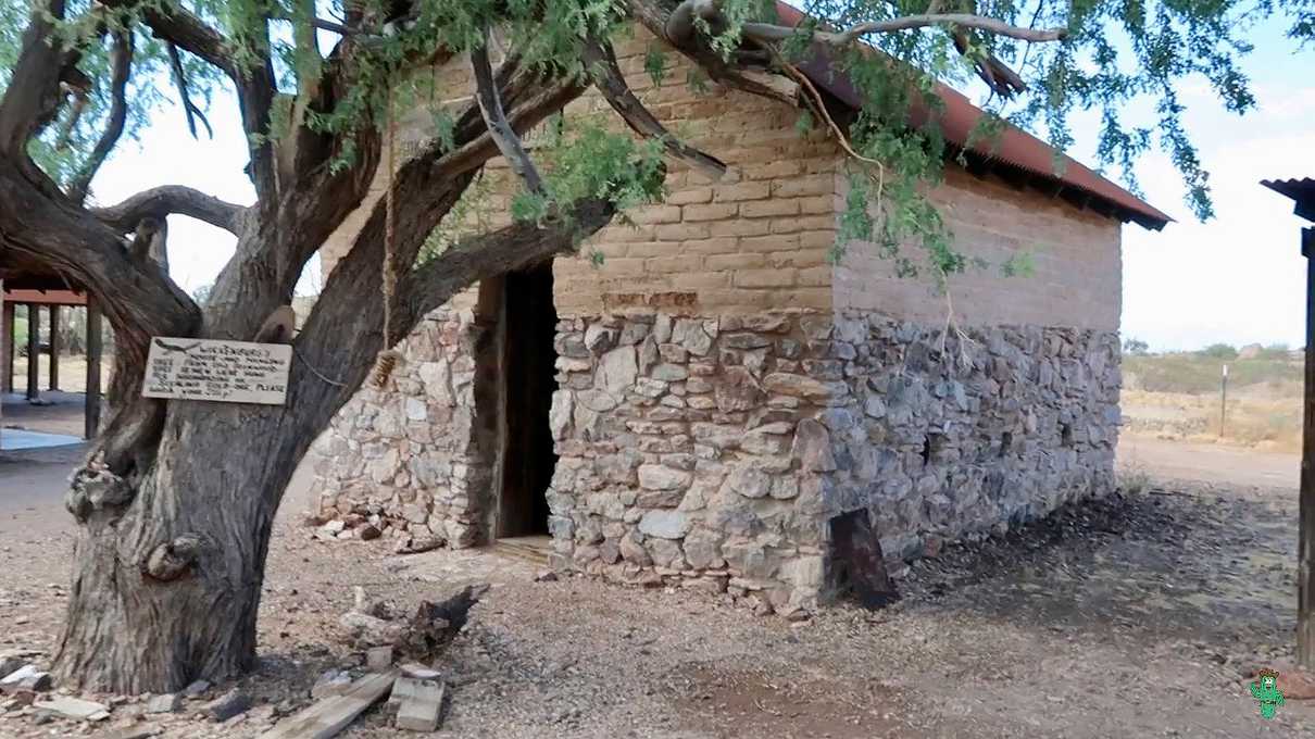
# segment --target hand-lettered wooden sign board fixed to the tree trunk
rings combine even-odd
[[[142,394],[283,405],[291,366],[289,345],[154,337]]]

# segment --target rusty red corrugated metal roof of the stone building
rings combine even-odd
[[[790,26],[798,25],[805,18],[802,12],[781,1],[776,3],[776,11],[781,22]],[[826,47],[818,45],[813,58],[800,64],[800,71],[847,105],[861,107],[859,92],[846,74],[835,67],[827,51]],[[1035,178],[1080,191],[1085,196],[1103,203],[1123,221],[1134,221],[1147,229],[1160,230],[1165,224],[1173,221],[1149,203],[1069,156],[1060,156],[1063,167],[1060,167],[1060,172],[1056,172],[1055,149],[1015,126],[1006,126],[998,137],[969,143],[969,135],[985,112],[948,85],[938,83],[936,95],[944,103],[944,109],[935,118],[942,135],[953,146],[967,150],[968,154],[994,166],[1020,170]],[[932,114],[931,110],[919,105],[910,110],[909,122],[913,126],[920,126],[927,124]]]

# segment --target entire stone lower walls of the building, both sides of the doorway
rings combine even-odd
[[[447,308],[405,342],[393,387],[318,443],[323,514],[488,540],[492,334]],[[842,513],[869,510],[885,554],[913,558],[1114,488],[1115,333],[943,335],[871,312],[560,321],[552,564],[790,611],[826,597]]]

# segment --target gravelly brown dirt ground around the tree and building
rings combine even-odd
[[[1294,458],[1136,442],[1126,493],[917,561],[893,608],[802,623],[710,593],[537,583],[534,565],[480,551],[318,542],[299,485],[270,548],[246,718],[193,718],[203,700],[139,719],[126,702],[103,725],[25,709],[0,715],[0,736],[255,736],[309,703],[323,671],[359,664],[337,638],[352,586],[406,610],[463,583],[492,589],[435,663],[451,685],[438,736],[1315,736],[1315,701],[1262,721],[1243,681],[1291,657]],[[75,459],[0,462],[0,654],[57,647]],[[402,734],[373,709],[342,736]]]

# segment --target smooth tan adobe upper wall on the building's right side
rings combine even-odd
[[[836,191],[846,191],[843,178]],[[953,166],[947,167],[932,200],[953,230],[956,246],[993,264],[951,279],[960,325],[1118,330],[1123,276],[1118,221]],[[843,197],[836,197],[836,206],[843,206]],[[905,249],[910,255],[919,250]],[[1002,277],[994,266],[1018,250],[1032,252],[1035,274]],[[836,267],[835,306],[930,325],[945,322],[945,298],[930,280],[894,276],[894,266],[868,242],[851,243]]]

